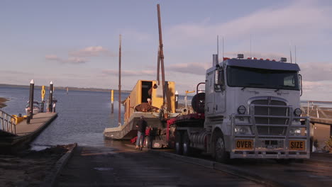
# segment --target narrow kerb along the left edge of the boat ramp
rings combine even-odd
[[[48,171],[43,183],[41,183],[40,186],[55,186],[55,181],[57,177],[60,175],[60,172],[67,164],[70,157],[72,157],[72,154],[74,153],[76,147],[77,143],[74,143],[74,147],[72,147],[72,149],[69,149],[64,155],[62,155],[62,157],[55,163],[55,166],[52,167],[52,170]]]

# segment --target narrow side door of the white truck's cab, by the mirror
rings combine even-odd
[[[225,77],[223,69],[215,71],[214,79],[214,114],[221,115],[225,112]]]

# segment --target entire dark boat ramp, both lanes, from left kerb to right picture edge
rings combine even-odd
[[[126,141],[78,146],[52,186],[331,186],[331,157],[304,163],[184,157],[170,149],[138,151]]]

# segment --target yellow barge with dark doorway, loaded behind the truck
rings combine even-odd
[[[123,102],[124,123],[116,128],[106,128],[104,137],[114,140],[130,140],[137,135],[136,121],[144,116],[149,128],[165,130],[164,118],[172,118],[175,113],[175,82],[165,81],[165,100],[167,107],[162,107],[162,84],[157,81],[138,80],[131,94]],[[163,132],[160,132],[163,133]]]

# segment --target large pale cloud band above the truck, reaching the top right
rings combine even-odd
[[[181,23],[168,28],[166,36],[172,46],[211,44],[216,35],[238,42],[248,40],[250,35],[257,36],[255,45],[259,42],[267,46],[271,40],[272,43],[296,40],[299,44],[307,42],[303,38],[317,40],[320,35],[326,35],[324,32],[332,27],[326,24],[332,17],[329,9],[311,1],[294,1],[289,6],[264,8],[224,23]]]

